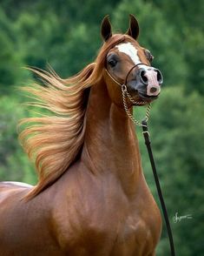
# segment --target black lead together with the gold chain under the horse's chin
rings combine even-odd
[[[155,178],[155,185],[156,185],[156,189],[157,189],[157,192],[158,192],[158,195],[159,195],[159,199],[160,199],[161,208],[162,208],[163,216],[164,216],[164,219],[165,219],[165,223],[166,223],[166,226],[167,226],[169,245],[170,245],[170,248],[171,248],[171,255],[175,256],[174,239],[173,239],[173,235],[172,235],[172,231],[171,231],[171,226],[170,226],[170,223],[169,223],[169,220],[168,220],[168,211],[167,211],[167,207],[165,205],[164,199],[163,199],[160,181],[159,181],[159,178],[158,178],[158,175],[157,175],[157,172],[156,172],[155,159],[154,159],[154,156],[153,156],[153,152],[152,152],[152,148],[151,148],[151,142],[150,142],[150,139],[149,139],[148,118],[149,118],[149,112],[151,110],[151,104],[150,103],[148,104],[148,109],[146,111],[145,118],[141,122],[139,122],[134,118],[132,113],[128,110],[128,104],[127,104],[126,96],[130,100],[130,102],[133,103],[133,104],[144,104],[144,102],[143,101],[142,102],[135,101],[131,97],[131,95],[128,93],[127,86],[125,84],[122,84],[122,101],[123,101],[124,109],[125,109],[125,111],[128,115],[128,118],[130,118],[130,120],[132,120],[135,125],[141,126],[142,130],[143,130],[142,133],[143,133],[143,136],[144,136],[145,144],[146,144],[147,149],[148,149],[148,157],[150,159],[150,163],[151,163],[151,166],[152,166],[152,171],[153,171],[154,178]]]

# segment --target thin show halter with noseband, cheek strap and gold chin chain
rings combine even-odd
[[[123,101],[123,106],[124,106],[124,109],[128,115],[128,118],[130,118],[130,120],[132,120],[132,122],[135,124],[135,125],[139,125],[139,126],[144,126],[142,124],[142,122],[139,122],[138,120],[136,120],[133,116],[133,114],[128,110],[128,104],[127,104],[127,97],[129,99],[129,101],[132,103],[132,104],[145,104],[146,102],[145,101],[135,101],[134,98],[132,98],[132,96],[128,93],[128,89],[127,89],[127,82],[128,82],[128,76],[129,74],[131,73],[131,71],[133,71],[135,69],[135,67],[139,66],[139,65],[146,65],[148,66],[148,64],[143,64],[143,63],[139,63],[139,64],[135,64],[127,73],[126,77],[125,77],[125,80],[124,80],[124,83],[121,84],[119,83],[117,80],[115,80],[115,78],[109,73],[109,71],[107,69],[105,69],[105,71],[107,72],[107,74],[109,75],[109,77],[115,82],[115,84],[118,84],[121,86],[122,88],[122,101]],[[148,122],[148,118],[149,118],[149,112],[151,110],[151,104],[148,103],[148,109],[146,111],[146,114],[145,114],[145,118],[144,120],[146,121],[146,123]]]

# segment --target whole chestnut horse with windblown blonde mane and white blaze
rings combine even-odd
[[[155,255],[161,215],[122,100],[122,84],[130,114],[160,93],[161,73],[138,34],[134,16],[114,35],[105,17],[94,63],[68,79],[35,70],[45,86],[25,90],[52,114],[22,122],[39,180],[0,183],[0,255]]]

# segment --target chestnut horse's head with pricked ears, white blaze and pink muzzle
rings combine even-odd
[[[101,33],[105,45],[111,44],[115,37],[120,37],[118,34],[112,34],[109,16],[102,20]],[[132,99],[128,106],[150,103],[158,98],[161,91],[161,71],[151,66],[154,57],[136,41],[138,36],[139,24],[136,18],[130,15],[126,34],[121,35],[122,39],[118,44],[112,44],[106,55],[104,79],[108,84],[110,98],[116,104],[122,104],[119,100],[121,96],[118,85],[127,90],[129,98]]]

